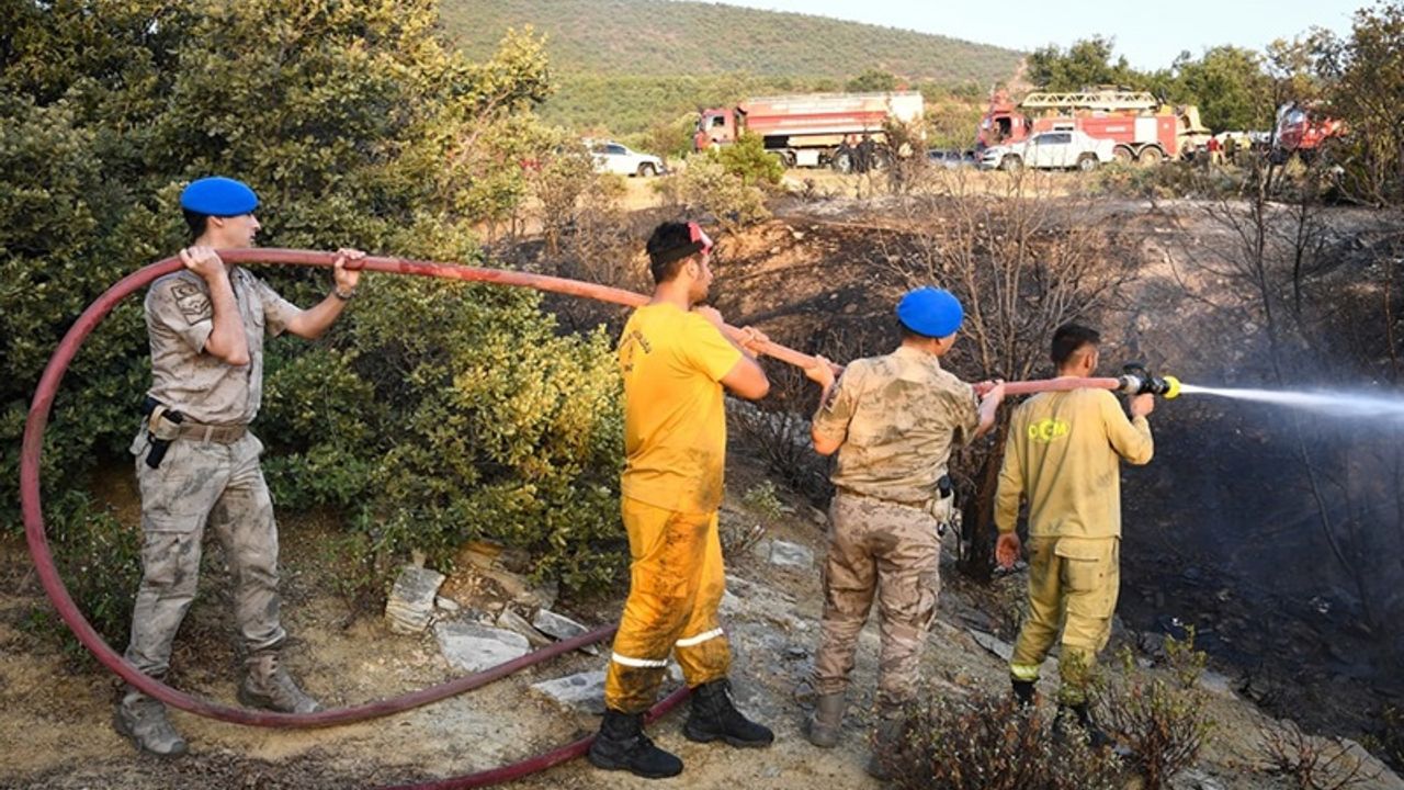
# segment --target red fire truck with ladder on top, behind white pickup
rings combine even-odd
[[[1199,108],[1170,107],[1144,91],[1038,91],[1014,103],[1007,93],[990,100],[980,119],[977,148],[1021,142],[1039,132],[1081,131],[1109,139],[1120,162],[1155,164],[1185,157],[1213,134],[1199,122]]]

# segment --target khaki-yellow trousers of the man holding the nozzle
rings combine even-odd
[[[1015,680],[1038,680],[1063,631],[1059,701],[1078,704],[1097,654],[1112,635],[1120,592],[1120,538],[1029,538],[1029,616],[1009,659]]]

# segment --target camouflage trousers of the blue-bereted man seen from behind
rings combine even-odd
[[[824,562],[824,614],[814,689],[848,686],[858,634],[878,597],[882,658],[878,707],[893,710],[917,696],[921,652],[941,592],[941,538],[924,506],[840,491],[830,506]]]

